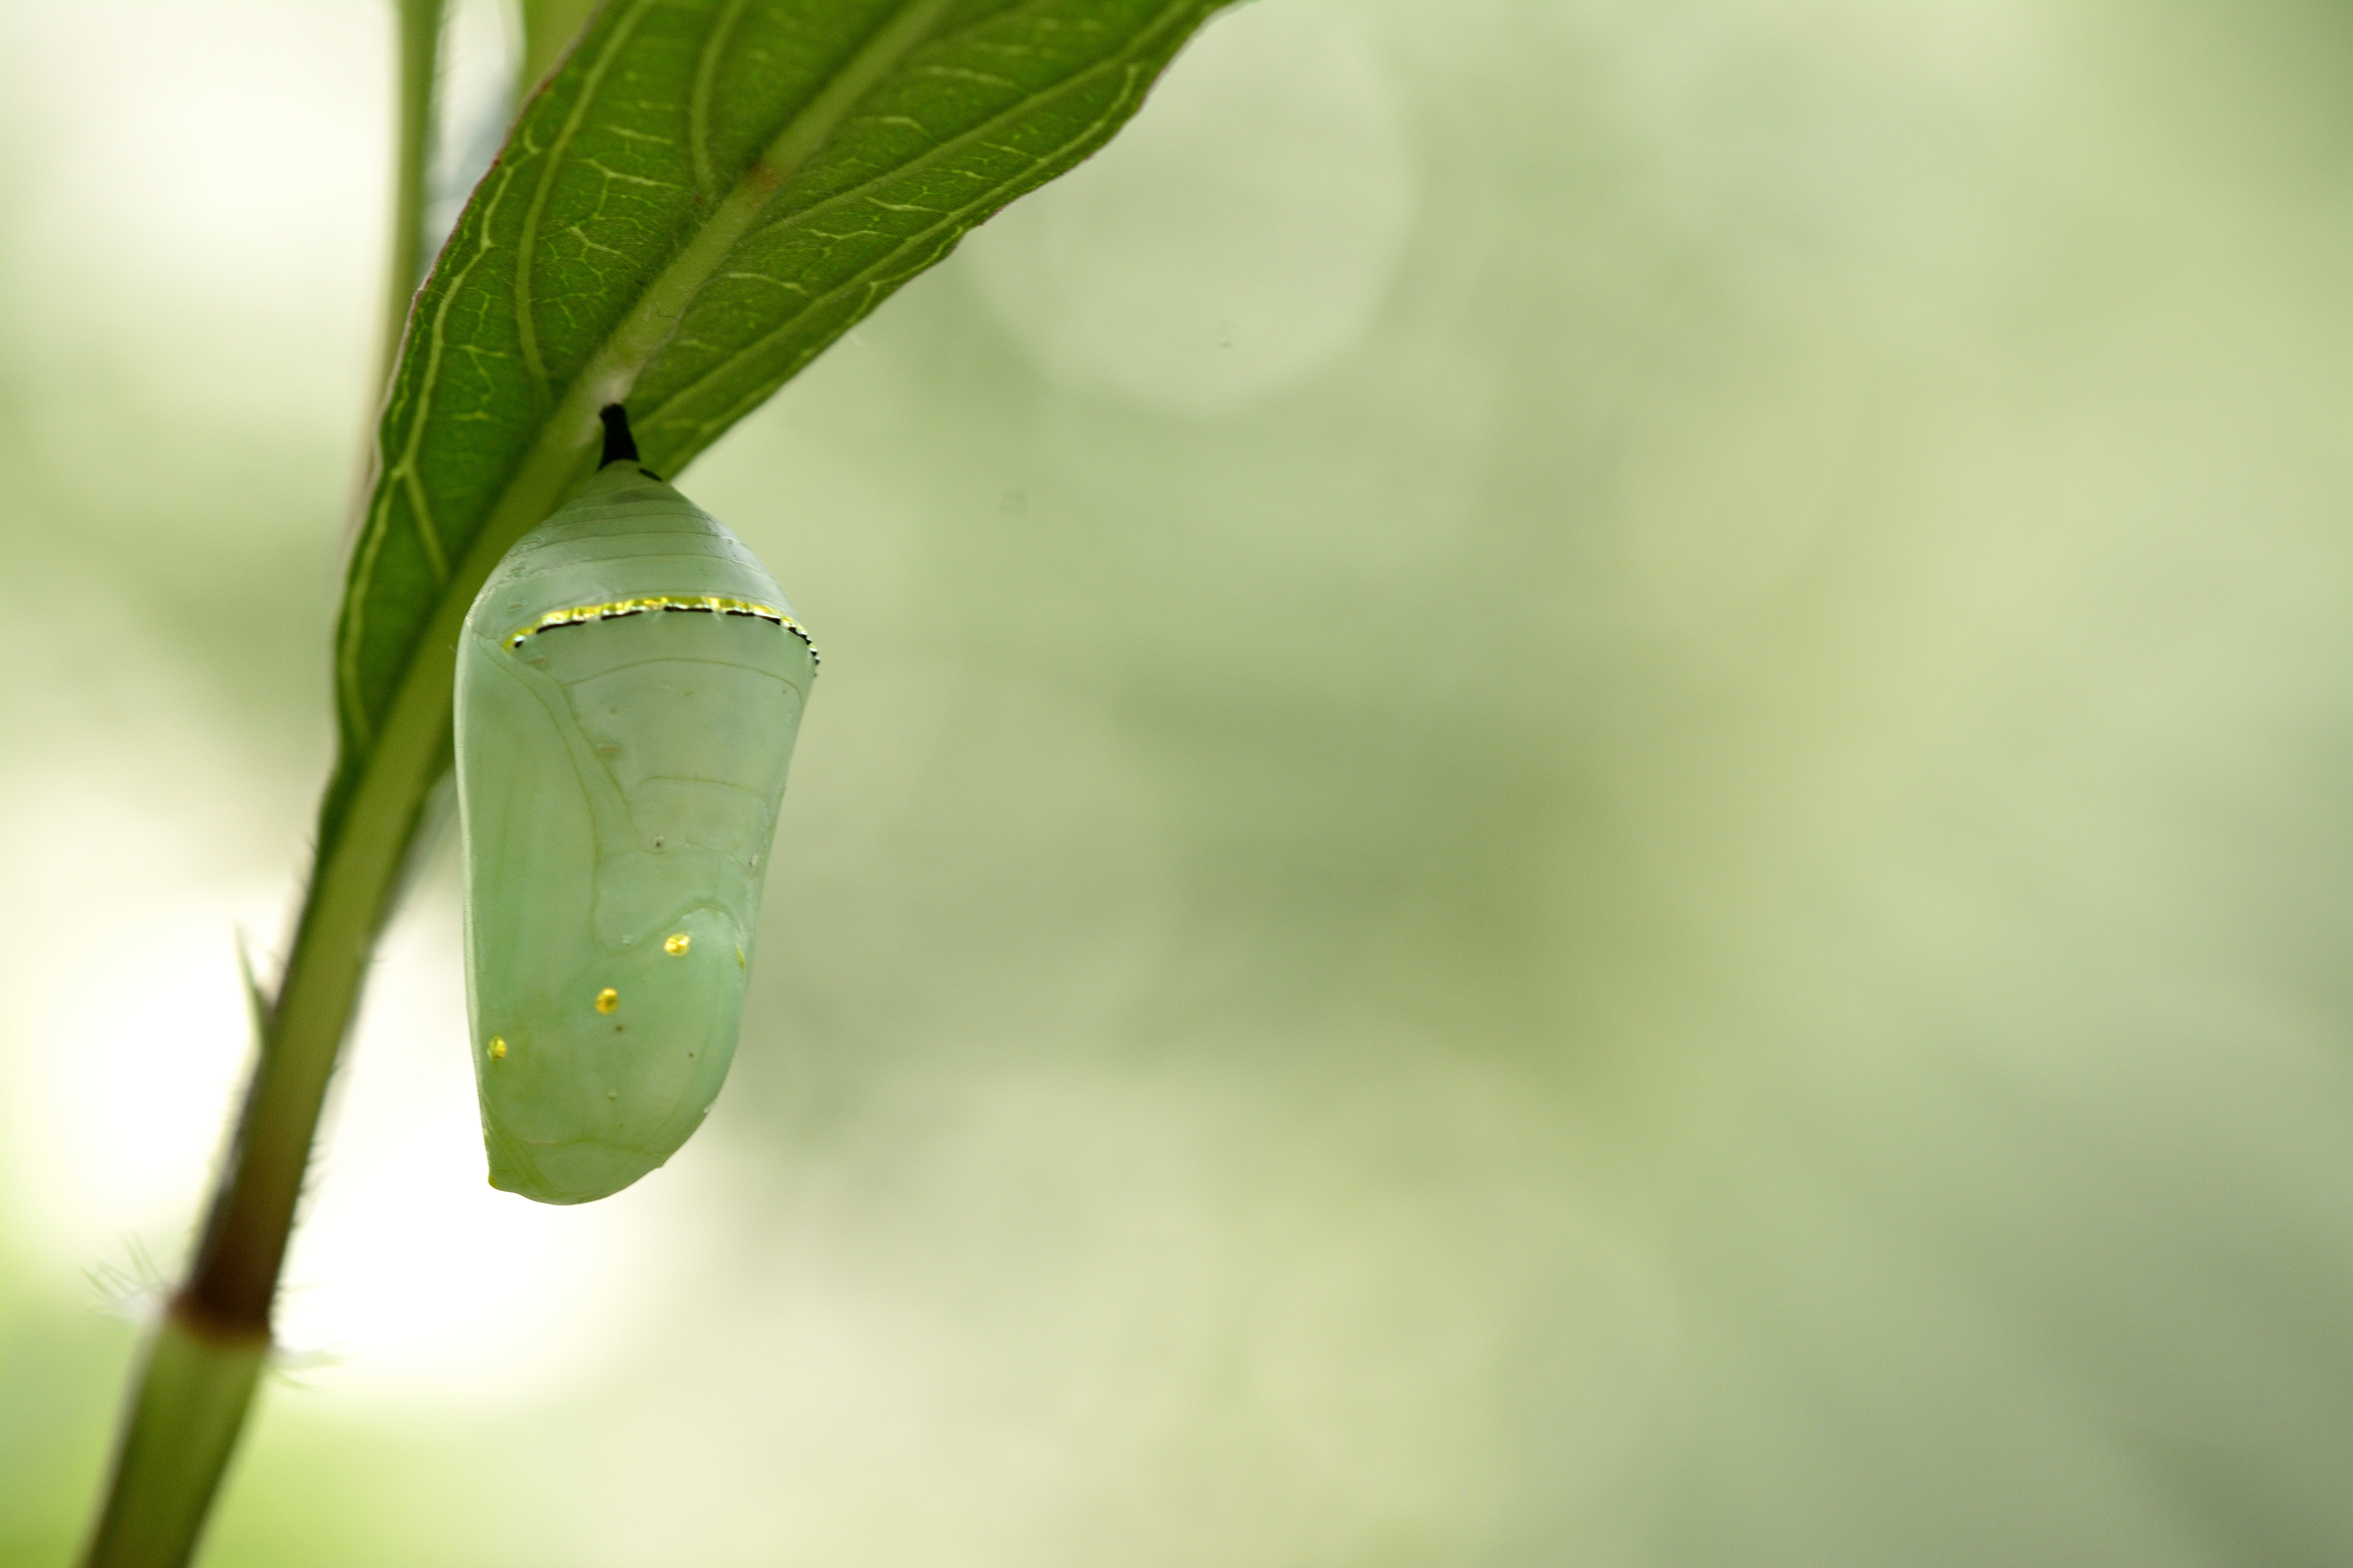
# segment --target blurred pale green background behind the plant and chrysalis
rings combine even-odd
[[[0,1563],[306,856],[386,56],[0,5]],[[442,844],[207,1561],[2353,1561],[2348,82],[1212,24],[685,477],[826,670],[671,1168],[482,1185]]]

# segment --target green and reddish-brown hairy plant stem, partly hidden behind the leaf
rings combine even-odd
[[[400,132],[376,386],[391,376],[424,270],[442,0],[398,0]],[[294,1232],[327,1081],[360,1001],[416,820],[442,766],[447,724],[386,726],[348,830],[311,870],[275,1001],[254,997],[256,1051],[238,1133],[212,1194],[188,1281],[134,1375],[87,1568],[179,1568],[235,1453],[271,1352],[271,1307]]]

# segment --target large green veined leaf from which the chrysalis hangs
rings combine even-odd
[[[336,635],[322,849],[393,729],[447,726],[456,623],[591,468],[600,404],[626,400],[645,461],[675,473],[965,230],[1104,146],[1209,9],[605,7],[409,315]]]

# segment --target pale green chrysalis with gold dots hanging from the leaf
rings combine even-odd
[[[734,1060],[760,863],[816,651],[727,529],[605,463],[459,637],[466,1009],[489,1185],[586,1204],[664,1164]]]

